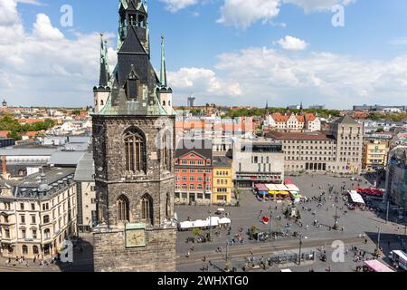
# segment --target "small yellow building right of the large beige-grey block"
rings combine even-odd
[[[381,169],[387,163],[389,148],[386,142],[369,140],[364,143],[364,169]]]

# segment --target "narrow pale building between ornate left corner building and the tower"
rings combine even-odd
[[[78,230],[90,232],[97,224],[95,165],[90,152],[83,154],[75,170],[78,198]]]

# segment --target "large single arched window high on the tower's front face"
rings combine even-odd
[[[128,131],[124,135],[126,170],[132,173],[146,173],[146,144],[137,131]]]

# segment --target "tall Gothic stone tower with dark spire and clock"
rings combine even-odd
[[[105,106],[92,115],[95,271],[175,271],[175,116],[159,100],[166,85],[150,63],[140,0],[120,0],[110,83]]]

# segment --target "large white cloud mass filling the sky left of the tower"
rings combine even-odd
[[[99,34],[67,38],[45,14],[37,15],[30,33],[17,10],[20,2],[0,0],[2,98],[14,105],[91,104],[91,89],[99,76]],[[109,49],[110,61],[116,61],[114,54]]]

